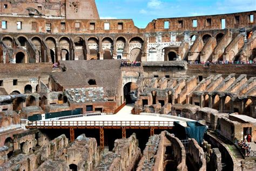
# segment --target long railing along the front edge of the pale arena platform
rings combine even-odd
[[[28,121],[28,127],[173,127],[173,121]]]

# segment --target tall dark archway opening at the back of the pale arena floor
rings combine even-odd
[[[124,99],[126,104],[133,104],[137,100],[138,85],[130,82],[124,85]]]

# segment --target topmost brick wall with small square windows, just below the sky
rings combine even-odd
[[[253,21],[250,21],[253,15]],[[163,18],[153,20],[146,29],[138,29],[132,19],[50,19],[42,17],[0,16],[7,22],[6,29],[0,23],[0,32],[17,33],[144,33],[144,32],[167,32],[167,31],[199,31],[219,30],[221,19],[226,20],[225,29],[251,28],[256,23],[256,11],[231,13],[214,16]],[[207,19],[211,20],[210,24]],[[197,26],[193,27],[193,20],[197,20]],[[17,29],[17,22],[22,22],[22,28]],[[169,28],[164,28],[164,22],[169,22]],[[109,26],[107,26],[108,24]],[[48,25],[48,30],[46,29]],[[107,29],[109,28],[109,29]]]

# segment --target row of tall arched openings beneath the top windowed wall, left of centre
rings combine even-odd
[[[2,38],[5,45],[14,47],[14,39],[10,36],[5,36]],[[21,46],[26,47],[26,42],[28,41],[28,38],[25,36],[18,36],[18,40],[21,44]],[[32,43],[36,46],[36,49],[39,54],[39,62],[48,62],[49,59],[43,58],[43,52],[42,52],[42,39],[35,36],[31,38]],[[127,42],[127,39],[125,37],[118,37],[116,39],[116,46],[117,50],[123,51],[125,44]],[[57,54],[57,40],[54,37],[46,37],[45,43],[50,49],[50,60],[52,63],[56,63],[58,61]],[[138,49],[141,49],[144,40],[141,37],[133,37],[129,40],[130,44],[140,44]],[[75,37],[74,39],[75,49],[81,48],[86,51],[85,47],[85,40],[82,37]],[[91,59],[99,59],[99,38],[98,37],[90,37],[87,38],[87,45],[89,46],[89,51],[91,54]],[[113,59],[113,38],[111,37],[104,37],[102,39],[102,46],[103,46],[103,59]],[[74,58],[71,57],[71,51],[72,51],[72,43],[70,38],[68,37],[61,37],[58,40],[58,49],[60,50],[60,59],[61,60],[74,60]],[[137,54],[137,50],[132,51],[132,54]],[[140,54],[140,53],[139,53]],[[45,54],[44,54],[45,56]],[[24,52],[18,52],[16,53],[16,63],[25,63],[25,54]],[[29,63],[36,62],[36,59],[29,59]]]

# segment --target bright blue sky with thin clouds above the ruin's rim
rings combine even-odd
[[[133,19],[138,28],[156,18],[256,10],[256,0],[95,0],[102,19]]]

